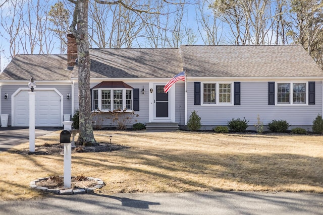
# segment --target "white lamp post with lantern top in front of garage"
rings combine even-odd
[[[34,88],[36,88],[36,83],[31,77],[28,83],[30,88],[29,94],[29,152],[35,152],[35,101],[36,93],[34,93]]]

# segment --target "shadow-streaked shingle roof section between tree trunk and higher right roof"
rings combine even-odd
[[[183,70],[174,48],[90,49],[91,78],[165,78]]]

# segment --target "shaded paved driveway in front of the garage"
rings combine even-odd
[[[36,127],[35,136],[59,130],[60,128]],[[27,127],[0,127],[0,153],[14,146],[29,142],[29,128]]]

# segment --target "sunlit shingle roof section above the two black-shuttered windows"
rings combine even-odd
[[[192,77],[322,77],[301,45],[181,46]]]

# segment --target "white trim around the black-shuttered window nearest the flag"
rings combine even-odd
[[[216,85],[216,103],[204,103],[204,84]],[[220,103],[220,84],[230,84],[230,102]],[[201,82],[201,106],[234,106],[234,82]]]

